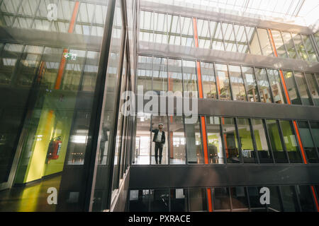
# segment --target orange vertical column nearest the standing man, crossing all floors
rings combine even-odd
[[[198,33],[197,33],[197,21],[196,18],[193,18],[193,26],[194,26],[194,42],[195,47],[198,48]],[[203,99],[203,86],[201,81],[201,64],[199,61],[196,61],[196,69],[197,69],[197,81],[198,81],[198,96],[200,99]],[[203,153],[205,164],[209,164],[208,162],[208,143],[207,143],[207,135],[206,135],[206,124],[205,117],[201,116],[201,134],[203,136]],[[213,204],[211,199],[211,189],[207,189],[207,199],[208,199],[208,211],[213,211]]]

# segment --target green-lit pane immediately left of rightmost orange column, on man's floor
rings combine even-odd
[[[301,153],[298,148],[291,121],[280,120],[280,125],[290,162],[302,163]]]

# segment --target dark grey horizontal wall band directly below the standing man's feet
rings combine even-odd
[[[318,183],[319,165],[130,167],[130,189]]]

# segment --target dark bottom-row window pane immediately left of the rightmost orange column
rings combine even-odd
[[[299,197],[302,212],[316,212],[313,203],[313,194],[310,191],[309,185],[297,185],[296,193]]]

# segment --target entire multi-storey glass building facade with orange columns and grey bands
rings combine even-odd
[[[1,211],[319,211],[319,32],[192,6],[0,0]]]

